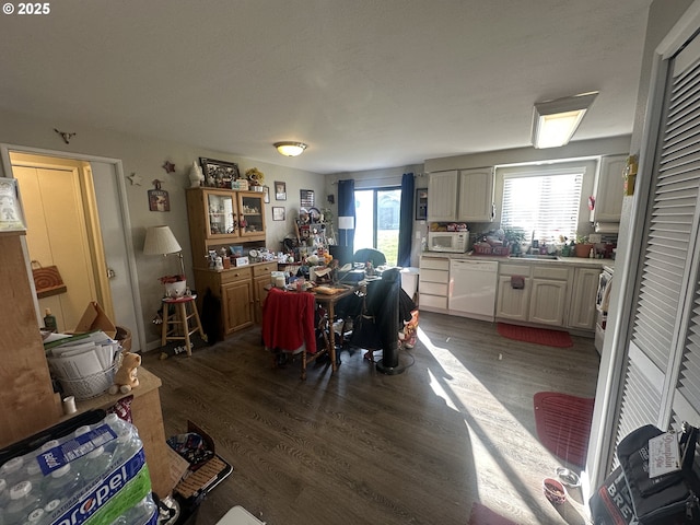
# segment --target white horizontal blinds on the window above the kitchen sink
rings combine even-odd
[[[504,173],[501,226],[522,228],[546,242],[574,238],[584,173],[584,166]]]

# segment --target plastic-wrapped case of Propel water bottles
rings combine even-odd
[[[115,415],[0,463],[0,525],[158,524],[143,445]]]

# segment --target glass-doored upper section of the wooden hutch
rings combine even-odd
[[[192,259],[236,242],[265,241],[265,194],[188,188],[187,218]]]

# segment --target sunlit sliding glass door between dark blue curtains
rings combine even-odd
[[[354,249],[376,248],[396,265],[401,188],[355,189]]]

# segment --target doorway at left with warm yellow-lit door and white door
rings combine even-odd
[[[132,351],[145,348],[120,161],[7,144],[0,153],[20,182],[28,260],[57,266],[67,288],[35,301],[39,324],[50,307],[59,330],[71,330],[97,301],[132,331]]]

